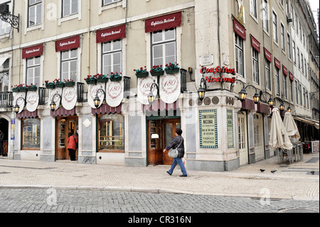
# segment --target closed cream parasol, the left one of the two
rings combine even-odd
[[[272,150],[292,149],[292,142],[279,114],[279,109],[274,107],[272,110],[271,129],[269,134],[269,145]]]

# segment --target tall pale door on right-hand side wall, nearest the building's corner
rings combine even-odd
[[[248,164],[247,157],[247,120],[245,115],[238,114],[238,129],[239,129],[239,160],[240,166]]]

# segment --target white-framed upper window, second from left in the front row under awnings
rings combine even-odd
[[[61,77],[60,80],[77,81],[78,75],[78,49],[61,51]]]

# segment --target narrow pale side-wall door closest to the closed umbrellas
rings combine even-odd
[[[259,114],[253,115],[253,136],[255,141],[255,161],[258,161],[265,158],[265,149],[263,148],[262,116]]]

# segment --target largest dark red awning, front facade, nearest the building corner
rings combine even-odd
[[[181,11],[174,14],[147,19],[144,23],[146,33],[152,31],[160,31],[169,28],[176,28],[181,26],[182,14]]]

